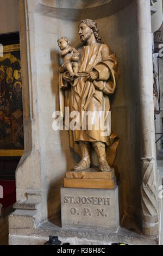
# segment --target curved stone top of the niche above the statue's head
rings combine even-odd
[[[39,0],[35,12],[65,21],[102,19],[126,8],[133,0]]]

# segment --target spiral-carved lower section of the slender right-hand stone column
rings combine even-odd
[[[153,236],[158,230],[158,203],[154,180],[154,159],[141,159],[142,163],[142,228],[143,233]]]

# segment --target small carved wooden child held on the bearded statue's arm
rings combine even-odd
[[[78,60],[79,52],[71,47],[71,42],[65,36],[58,39],[58,45],[61,50],[61,58],[63,64],[61,68],[64,68],[68,71],[70,76],[79,76],[78,75]]]

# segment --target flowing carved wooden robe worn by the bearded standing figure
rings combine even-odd
[[[116,135],[103,136],[103,130],[95,130],[95,118],[93,113],[103,111],[104,118],[110,111],[109,95],[114,94],[118,80],[118,66],[115,54],[105,44],[95,43],[83,46],[78,49],[80,52],[79,78],[72,80],[67,72],[60,72],[60,111],[64,116],[64,107],[70,107],[70,111],[78,111],[82,117],[82,111],[91,111],[92,130],[70,130],[70,145],[78,152],[76,144],[79,141],[104,142],[110,145]],[[89,74],[90,71],[98,71],[98,79],[90,82],[82,74]],[[82,127],[82,118],[80,119]],[[87,126],[86,126],[87,127]]]

